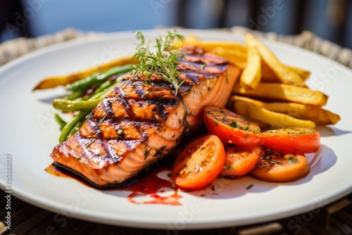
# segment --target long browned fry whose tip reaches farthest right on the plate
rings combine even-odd
[[[265,108],[272,112],[283,113],[293,118],[301,120],[311,120],[317,125],[332,125],[339,122],[341,119],[336,113],[332,113],[329,110],[325,110],[320,106],[310,106],[302,103],[287,103],[287,102],[274,102],[265,103],[256,101],[243,96],[232,96],[230,103],[236,101],[246,101],[253,103],[258,107]]]

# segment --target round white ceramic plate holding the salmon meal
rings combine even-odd
[[[179,31],[207,40],[237,40],[230,33]],[[165,32],[145,32],[155,37]],[[182,205],[137,205],[121,191],[99,191],[74,179],[44,172],[52,163],[49,154],[57,144],[59,130],[49,101],[63,89],[32,92],[39,80],[65,75],[125,56],[134,51],[134,34],[122,32],[91,40],[57,44],[20,58],[0,68],[1,189],[5,189],[5,158],[11,155],[12,191],[18,198],[57,212],[53,220],[83,220],[127,227],[206,229],[276,220],[307,212],[307,220],[322,205],[341,198],[352,189],[352,72],[334,61],[294,46],[265,42],[290,65],[312,71],[308,85],[329,95],[327,109],[341,115],[334,126],[320,127],[322,148],[308,155],[310,174],[286,184],[260,182],[251,177],[218,180],[212,189],[180,193]],[[246,190],[247,186],[253,187]],[[201,196],[206,194],[206,196]]]

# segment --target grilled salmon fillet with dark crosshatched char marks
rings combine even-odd
[[[201,129],[203,108],[225,106],[239,68],[196,46],[182,50],[177,95],[158,75],[145,82],[130,72],[75,135],[54,147],[54,162],[96,187],[122,186]]]

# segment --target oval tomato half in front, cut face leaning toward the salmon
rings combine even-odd
[[[218,177],[224,164],[225,148],[218,136],[201,136],[177,157],[172,180],[183,189],[199,189]]]

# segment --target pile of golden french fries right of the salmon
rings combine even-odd
[[[227,108],[256,122],[262,129],[333,125],[340,116],[322,108],[328,96],[309,89],[310,72],[279,61],[267,46],[246,34],[245,43],[206,42],[189,35],[175,46],[201,46],[241,69]]]

